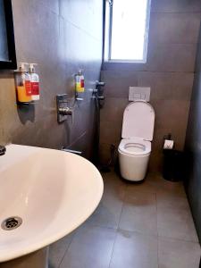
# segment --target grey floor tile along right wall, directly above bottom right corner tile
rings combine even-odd
[[[158,208],[157,228],[161,237],[198,241],[192,215],[186,209]]]

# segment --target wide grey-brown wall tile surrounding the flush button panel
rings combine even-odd
[[[130,86],[150,87],[152,100],[188,100],[191,96],[193,72],[102,71],[107,98],[129,97]],[[105,113],[105,109],[102,111]]]

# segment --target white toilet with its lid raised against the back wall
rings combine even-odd
[[[123,113],[121,143],[118,148],[121,177],[144,180],[151,154],[155,110],[146,101],[130,103]]]

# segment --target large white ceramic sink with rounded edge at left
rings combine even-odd
[[[103,180],[88,160],[62,151],[9,145],[0,156],[0,262],[27,255],[75,230],[94,212]]]

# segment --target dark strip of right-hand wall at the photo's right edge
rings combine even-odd
[[[188,200],[201,241],[201,32],[197,50],[197,66],[188,117],[185,144],[186,169],[185,182]]]

